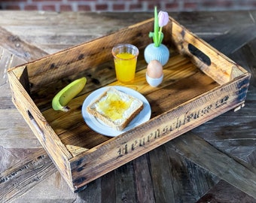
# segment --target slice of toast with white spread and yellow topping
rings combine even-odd
[[[110,87],[87,107],[87,112],[111,128],[121,131],[142,109],[143,102],[139,98]]]

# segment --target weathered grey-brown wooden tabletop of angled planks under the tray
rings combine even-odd
[[[7,69],[152,14],[0,11],[0,202],[256,202],[256,11],[170,15],[251,72],[245,107],[73,193],[11,102]]]

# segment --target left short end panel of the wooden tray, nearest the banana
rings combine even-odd
[[[23,74],[19,75],[20,80],[24,80],[23,75],[27,75],[26,68],[24,68],[23,71]],[[8,79],[10,81],[14,105],[20,111],[20,114],[22,114],[26,123],[29,124],[32,132],[34,132],[44,149],[47,150],[50,158],[72,188],[72,177],[69,165],[69,159],[72,158],[72,155],[35,106],[29,94],[20,83],[20,80],[18,80],[14,74],[14,71],[8,71]]]

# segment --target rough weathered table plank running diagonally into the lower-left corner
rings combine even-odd
[[[17,162],[1,173],[2,194],[0,199],[3,202],[14,198],[16,195],[22,195],[23,192],[56,171],[53,162],[44,154],[44,150],[36,150],[35,153],[26,154],[23,162],[25,164]],[[35,175],[31,175],[31,173]]]

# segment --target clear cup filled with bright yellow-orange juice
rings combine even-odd
[[[117,44],[112,49],[117,80],[130,83],[134,80],[139,50],[133,44]]]

